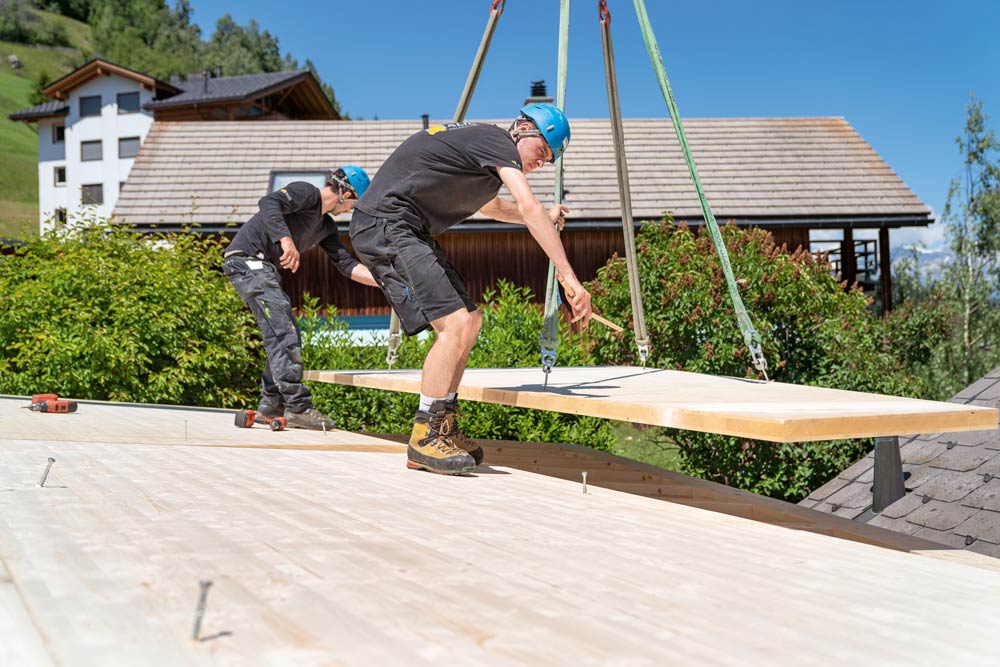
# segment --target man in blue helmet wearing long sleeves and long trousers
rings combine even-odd
[[[371,272],[340,240],[333,216],[348,213],[370,180],[361,167],[345,165],[326,174],[323,187],[295,181],[265,195],[224,251],[222,270],[260,326],[267,363],[258,413],[284,417],[288,426],[331,429],[302,382],[302,339],[292,303],[281,288],[281,269],[299,270],[300,254],[319,246],[342,275],[372,287]]]

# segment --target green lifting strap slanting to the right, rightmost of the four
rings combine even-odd
[[[643,0],[634,0],[635,2],[635,12],[639,19],[639,28],[642,31],[643,41],[646,43],[646,50],[649,52],[649,60],[653,64],[653,70],[656,72],[656,78],[660,82],[660,90],[663,92],[663,99],[667,102],[667,109],[670,113],[670,118],[673,121],[674,131],[677,133],[677,141],[681,145],[681,149],[684,151],[684,160],[687,162],[688,171],[691,172],[691,180],[694,181],[695,190],[698,193],[698,199],[701,202],[702,216],[705,218],[705,224],[708,225],[709,232],[712,235],[712,241],[715,243],[715,249],[719,254],[719,260],[722,263],[722,270],[726,276],[726,284],[729,287],[729,296],[733,302],[733,310],[736,312],[736,321],[740,326],[740,331],[743,334],[743,341],[747,348],[750,350],[750,356],[753,359],[754,367],[764,375],[764,379],[767,379],[767,359],[764,358],[764,352],[761,349],[761,338],[757,330],[754,329],[753,322],[750,321],[750,316],[747,314],[746,306],[743,305],[743,299],[740,298],[739,288],[736,286],[736,279],[733,277],[733,269],[729,263],[729,253],[726,251],[726,244],[722,239],[722,233],[719,231],[719,224],[715,221],[715,216],[712,214],[712,209],[708,204],[708,198],[705,196],[705,191],[701,186],[701,179],[698,176],[698,167],[694,163],[694,156],[691,154],[691,149],[688,146],[687,135],[684,133],[684,123],[681,120],[681,114],[677,110],[677,104],[674,101],[674,94],[670,90],[670,81],[667,79],[667,71],[663,65],[663,56],[660,54],[659,44],[656,42],[656,36],[653,34],[653,29],[649,23],[649,16],[646,14],[646,6]]]

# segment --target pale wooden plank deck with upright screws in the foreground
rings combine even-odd
[[[1000,572],[961,560],[231,413],[23,404],[0,665],[995,664]]]

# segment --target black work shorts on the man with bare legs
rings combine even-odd
[[[413,336],[434,320],[459,310],[475,312],[462,277],[422,228],[354,210],[351,245],[372,272],[406,335]]]

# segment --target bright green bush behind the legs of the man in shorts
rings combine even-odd
[[[307,368],[365,369],[385,367],[385,341],[352,347],[342,320],[318,317],[315,299],[307,299],[302,319],[303,358]],[[531,291],[501,281],[498,291],[483,295],[483,327],[469,356],[470,368],[539,368],[538,336],[542,312],[532,303]],[[563,326],[562,337],[568,333]],[[386,336],[386,339],[388,336]],[[420,368],[433,335],[427,340],[408,338],[399,349],[397,368]],[[562,365],[587,363],[586,351],[570,339],[561,346]],[[332,384],[313,385],[319,409],[337,419],[341,428],[370,432],[407,433],[417,408],[414,394],[361,389]],[[613,443],[611,424],[541,410],[463,401],[461,425],[473,438],[524,442],[572,442],[608,449]]]

